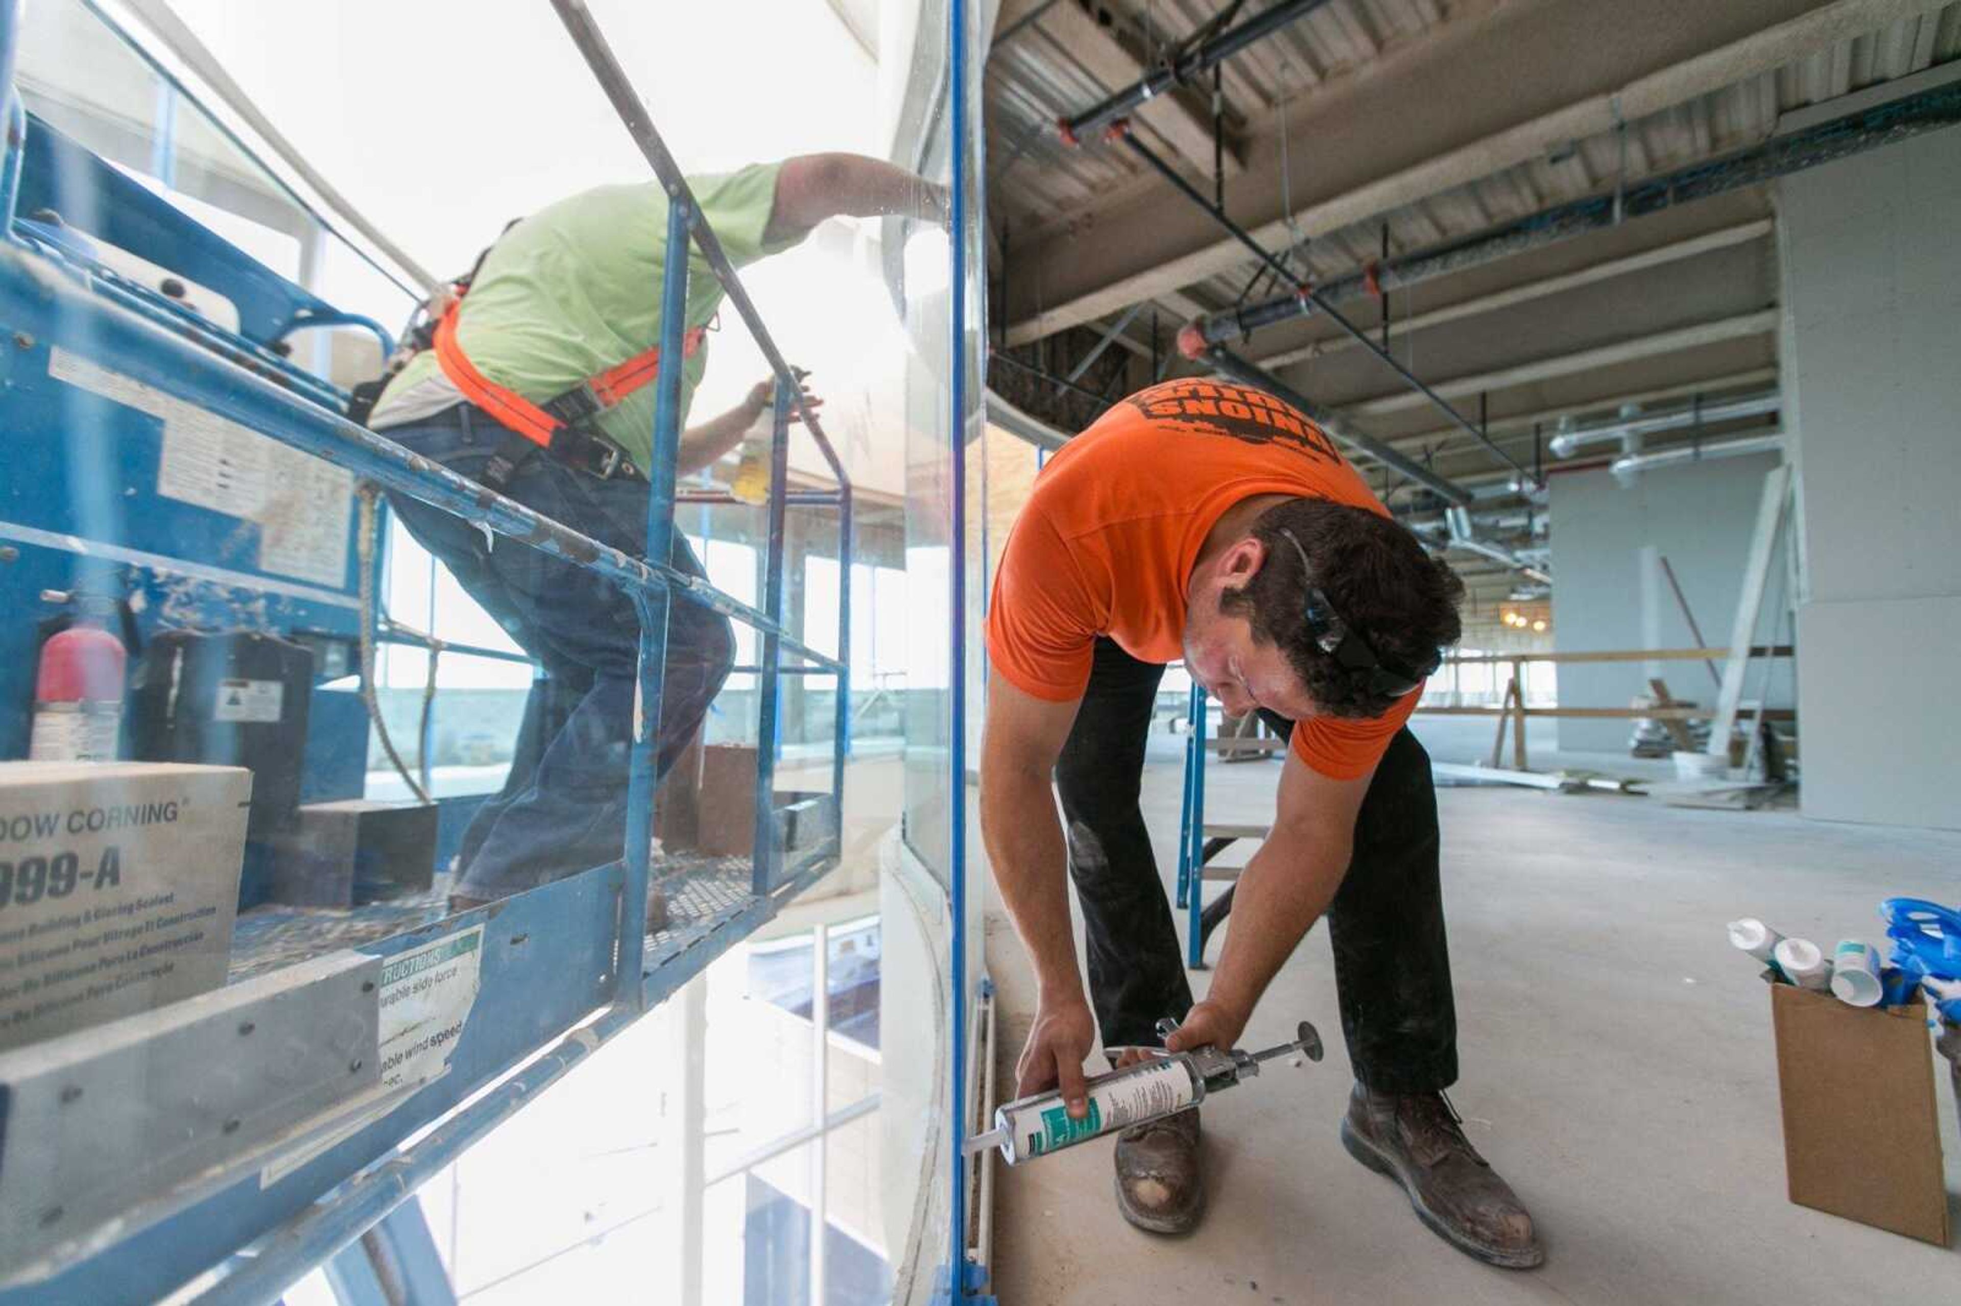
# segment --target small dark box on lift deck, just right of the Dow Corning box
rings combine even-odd
[[[265,839],[273,902],[355,906],[429,888],[435,804],[337,798],[300,804],[300,824]]]

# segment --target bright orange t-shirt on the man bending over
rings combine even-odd
[[[1008,533],[986,645],[1016,688],[1082,696],[1096,635],[1145,663],[1184,657],[1198,547],[1255,494],[1326,498],[1388,516],[1322,427],[1261,390],[1167,380],[1131,394],[1049,459]],[[1422,686],[1375,720],[1294,724],[1292,747],[1339,780],[1367,775]]]

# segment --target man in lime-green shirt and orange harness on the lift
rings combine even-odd
[[[800,155],[690,178],[688,186],[735,267],[796,245],[826,218],[896,214],[943,222],[947,216],[945,186],[861,155]],[[553,437],[549,447],[535,443],[535,435],[520,435],[522,420],[512,426],[512,410],[486,400],[484,386],[492,396],[551,406],[643,355],[659,341],[665,259],[667,192],[657,182],[586,190],[514,224],[482,257],[447,318],[453,353],[416,353],[388,380],[369,426],[602,543],[641,555],[649,492],[641,469],[651,459],[655,386],[633,388],[614,406],[573,422],[567,437]],[[682,365],[682,422],[708,365],[700,327],[720,302],[720,282],[690,245],[686,327],[696,347]],[[677,475],[716,463],[769,404],[765,380],[731,412],[684,426]],[[404,496],[390,502],[408,531],[443,559],[545,673],[533,682],[510,777],[463,837],[453,906],[475,906],[616,861],[626,843],[639,655],[631,600],[586,569],[492,539],[439,508]],[[679,533],[669,561],[704,575]],[[692,739],[731,665],[728,618],[690,602],[671,604],[659,775]]]

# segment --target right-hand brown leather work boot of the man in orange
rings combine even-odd
[[[1410,1194],[1416,1218],[1479,1261],[1532,1269],[1545,1259],[1532,1216],[1459,1128],[1441,1092],[1371,1092],[1355,1084],[1341,1145]]]

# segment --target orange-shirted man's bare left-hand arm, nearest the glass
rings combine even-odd
[[[996,671],[988,677],[980,739],[980,837],[1000,900],[1035,967],[1035,1024],[1016,1065],[1016,1096],[1059,1086],[1071,1116],[1086,1108],[1082,1061],[1096,1041],[1096,1020],[1077,973],[1069,861],[1049,777],[1079,702],[1045,702]]]

